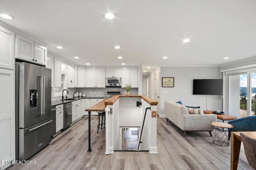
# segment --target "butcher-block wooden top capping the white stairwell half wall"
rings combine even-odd
[[[116,100],[118,100],[118,98],[142,98],[148,104],[150,104],[150,106],[156,106],[158,104],[158,102],[156,100],[153,100],[144,95],[115,95],[112,98],[105,101],[104,103],[105,103],[105,105],[113,105],[116,102]]]

